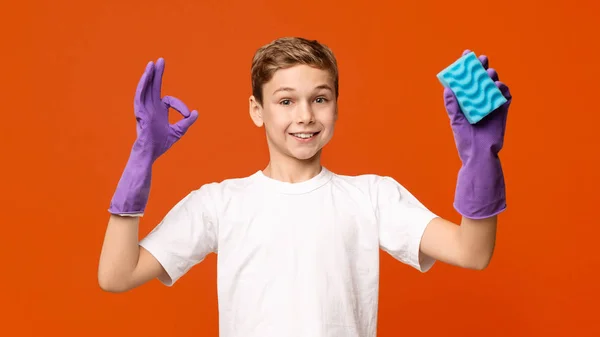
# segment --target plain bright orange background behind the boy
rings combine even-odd
[[[106,210],[135,138],[133,95],[162,56],[164,94],[200,111],[155,166],[145,235],[190,190],[266,165],[248,116],[250,62],[290,35],[339,60],[341,116],[325,165],[392,175],[454,221],[460,163],[435,75],[470,48],[514,96],[501,152],[509,208],[490,267],[420,274],[382,254],[380,336],[600,335],[597,2],[2,7],[3,335],[217,336],[215,255],[172,288],[152,281],[115,295],[97,284]]]

